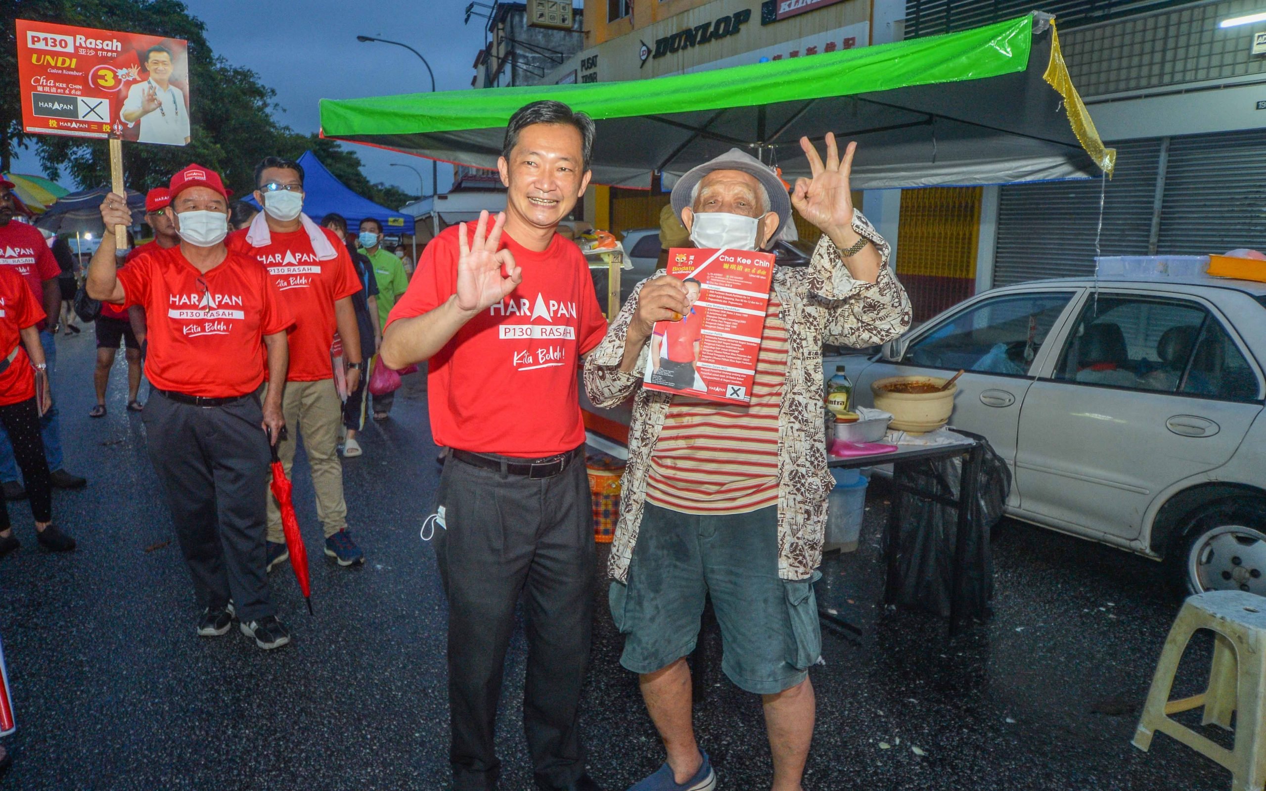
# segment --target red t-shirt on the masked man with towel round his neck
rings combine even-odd
[[[295,318],[290,342],[289,382],[315,382],[334,376],[329,347],[338,325],[334,320],[334,301],[352,296],[361,290],[361,281],[347,254],[347,246],[338,235],[322,228],[335,251],[335,257],[318,261],[308,232],[300,228],[290,233],[272,232],[271,243],[253,247],[246,240],[246,230],[229,234],[228,247],[251,256],[272,275],[281,301]]]

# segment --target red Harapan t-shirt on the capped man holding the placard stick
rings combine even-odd
[[[158,248],[119,270],[119,282],[124,306],[146,309],[146,376],[160,390],[252,392],[263,382],[263,337],[294,324],[268,272],[233,251],[203,273],[179,246]]]

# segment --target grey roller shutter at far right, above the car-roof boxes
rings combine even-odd
[[[1157,252],[1266,251],[1266,129],[1176,137]]]

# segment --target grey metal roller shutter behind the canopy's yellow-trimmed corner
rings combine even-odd
[[[1105,189],[1099,248],[1104,256],[1146,256],[1161,142],[1113,146],[1117,172]],[[998,202],[994,286],[1093,273],[1099,190],[1098,178],[1004,186]]]

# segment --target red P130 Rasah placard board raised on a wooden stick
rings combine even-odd
[[[18,20],[23,130],[184,146],[189,43]]]

